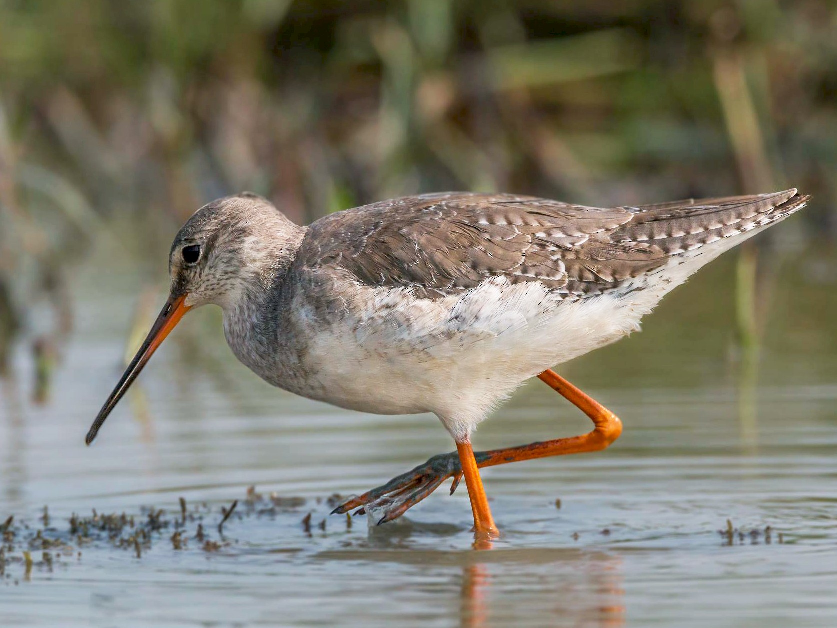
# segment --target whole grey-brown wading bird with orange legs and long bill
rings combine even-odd
[[[243,193],[198,210],[174,239],[171,294],[87,435],[195,307],[223,309],[227,342],[269,383],[341,408],[436,414],[456,452],[335,512],[387,522],[462,476],[475,531],[497,534],[480,467],[603,450],[619,418],[551,368],[639,329],[676,286],[804,207],[773,194],[600,209],[508,194],[397,198],[300,227]],[[594,429],[477,452],[471,433],[536,376]]]

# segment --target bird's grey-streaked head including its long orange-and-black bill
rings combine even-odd
[[[229,310],[270,290],[293,261],[304,234],[270,201],[251,193],[219,198],[198,209],[172,244],[166,305],[96,417],[87,444],[187,311],[208,304]]]

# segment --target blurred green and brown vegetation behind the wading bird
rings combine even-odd
[[[244,189],[309,222],[793,186],[815,203],[774,238],[828,243],[835,95],[825,0],[0,0],[0,370],[33,302],[69,331],[93,239],[164,251]]]

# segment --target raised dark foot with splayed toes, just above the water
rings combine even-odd
[[[393,478],[383,486],[363,493],[360,497],[350,497],[331,514],[345,514],[355,508],[358,508],[355,515],[370,510],[383,512],[383,517],[377,522],[380,526],[401,517],[404,512],[429,497],[449,477],[454,478],[450,487],[450,494],[453,495],[462,480],[460,458],[456,452],[433,456],[424,465]]]

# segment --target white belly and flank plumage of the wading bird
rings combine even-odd
[[[438,301],[360,291],[351,316],[309,336],[303,394],[376,414],[433,412],[454,435],[526,379],[639,329],[650,311],[607,294],[571,300],[501,278]]]

